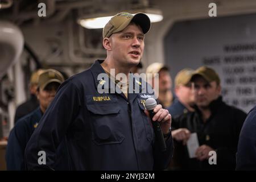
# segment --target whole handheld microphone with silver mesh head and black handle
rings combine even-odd
[[[159,146],[161,151],[166,151],[166,142],[164,141],[163,131],[160,127],[160,123],[152,120],[155,115],[154,109],[156,105],[156,100],[154,98],[148,98],[145,102],[145,107],[150,114],[150,119],[154,128],[156,144]]]

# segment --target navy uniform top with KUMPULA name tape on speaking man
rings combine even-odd
[[[143,106],[150,94],[129,93],[127,99],[123,93],[98,93],[97,86],[105,86],[105,81],[97,79],[105,73],[100,63],[97,60],[60,86],[27,144],[28,169],[52,168],[63,137],[67,138],[73,170],[152,170],[168,166],[172,137],[166,140],[167,151],[155,147],[154,131]],[[133,82],[141,89],[142,81]],[[113,91],[113,85],[109,90]],[[46,151],[46,165],[38,165],[40,150]]]

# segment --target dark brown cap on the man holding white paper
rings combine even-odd
[[[208,82],[216,81],[217,85],[220,85],[220,77],[212,68],[205,67],[205,66],[197,68],[196,71],[193,73],[191,80],[193,80],[193,78],[196,75],[202,76]]]

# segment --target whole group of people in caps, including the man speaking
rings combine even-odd
[[[67,80],[54,69],[36,71],[30,100],[16,110],[7,169],[255,170],[255,108],[247,116],[222,101],[221,79],[214,69],[182,69],[174,92],[171,70],[163,63],[146,69],[158,75],[158,85],[130,77],[142,68],[150,27],[146,14],[119,13],[102,32],[105,60]],[[107,79],[98,80],[102,73]],[[127,80],[118,79],[119,73]],[[109,92],[99,93],[99,86]],[[158,103],[151,119],[159,122],[165,151],[158,148],[147,98]],[[39,151],[46,153],[43,163],[38,162]]]

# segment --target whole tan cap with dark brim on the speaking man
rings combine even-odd
[[[122,12],[114,15],[103,28],[103,38],[109,38],[112,34],[125,29],[129,23],[133,21],[141,26],[143,34],[146,34],[151,27],[150,18],[144,13],[132,15],[127,12]]]

